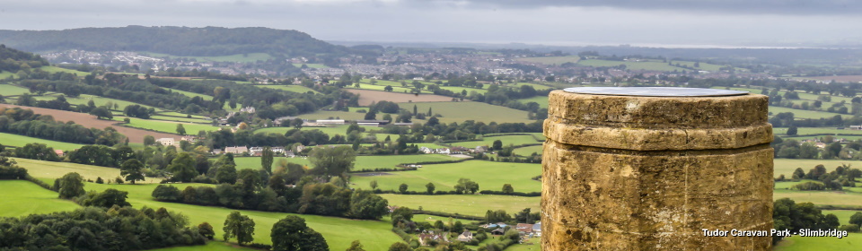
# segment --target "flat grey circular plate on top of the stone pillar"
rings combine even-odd
[[[563,89],[563,91],[581,94],[638,97],[721,97],[749,93],[748,91],[683,87],[572,87]]]

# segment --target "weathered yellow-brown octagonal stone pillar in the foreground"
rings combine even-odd
[[[770,250],[702,231],[772,228],[767,108],[744,91],[552,91],[542,250]]]

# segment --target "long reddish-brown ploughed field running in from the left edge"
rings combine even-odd
[[[0,107],[9,107],[9,108],[23,108],[23,109],[31,109],[34,113],[42,114],[42,115],[50,115],[54,117],[56,121],[75,121],[75,124],[84,125],[86,127],[95,127],[99,129],[104,129],[105,127],[111,126],[114,129],[117,129],[117,132],[120,134],[126,135],[128,137],[129,143],[144,143],[144,136],[151,135],[156,139],[158,138],[174,138],[177,137],[176,134],[165,134],[158,132],[150,132],[137,128],[130,128],[124,126],[117,126],[117,121],[110,120],[100,120],[96,119],[95,116],[80,113],[80,112],[72,112],[65,110],[56,110],[56,109],[48,109],[48,108],[33,108],[33,107],[22,107],[15,105],[7,105],[0,104]]]

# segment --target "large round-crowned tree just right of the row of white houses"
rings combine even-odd
[[[315,147],[309,153],[312,162],[312,173],[330,176],[341,176],[353,169],[356,151],[350,146]]]

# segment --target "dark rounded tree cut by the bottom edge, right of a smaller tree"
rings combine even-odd
[[[272,238],[273,251],[330,250],[321,233],[309,228],[305,219],[294,215],[288,215],[272,225],[269,236]]]

